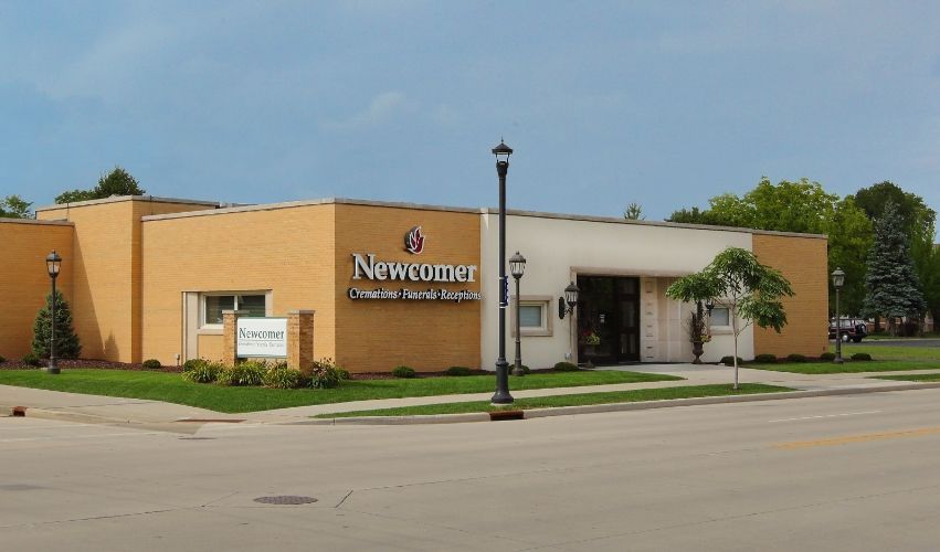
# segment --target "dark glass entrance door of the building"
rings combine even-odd
[[[579,276],[578,287],[578,360],[638,361],[640,278]]]

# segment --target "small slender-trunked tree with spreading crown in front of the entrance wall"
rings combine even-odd
[[[738,338],[751,323],[773,328],[786,325],[783,297],[792,297],[790,282],[777,269],[761,264],[753,253],[728,247],[701,272],[682,277],[666,289],[676,300],[711,300],[728,309],[735,337],[735,389],[738,389]]]

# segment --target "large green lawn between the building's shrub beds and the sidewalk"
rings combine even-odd
[[[638,372],[578,371],[511,376],[509,389],[574,388],[610,383],[682,380],[673,375]],[[190,383],[180,374],[122,370],[63,370],[52,375],[42,370],[0,370],[0,384],[66,391],[92,395],[148,399],[187,404],[216,412],[255,412],[310,404],[342,403],[371,399],[486,393],[496,388],[493,375],[464,378],[415,378],[410,380],[353,380],[338,389],[281,390],[223,388]]]

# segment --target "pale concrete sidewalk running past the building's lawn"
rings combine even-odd
[[[685,378],[679,381],[621,383],[613,385],[594,385],[581,388],[557,388],[538,389],[526,391],[511,391],[516,399],[531,396],[550,396],[579,393],[599,393],[605,391],[627,391],[637,389],[677,388],[688,385],[706,385],[716,383],[731,383],[733,381],[733,368],[724,365],[693,365],[693,364],[642,364],[629,367],[604,367],[599,370],[621,370],[645,373],[657,373],[678,375]],[[741,383],[765,383],[799,390],[800,393],[740,395],[731,397],[735,401],[748,400],[774,400],[795,396],[820,396],[828,394],[868,393],[877,391],[904,391],[910,389],[930,389],[940,386],[940,383],[916,383],[895,382],[872,379],[879,374],[910,374],[933,373],[937,370],[912,370],[905,372],[869,372],[865,374],[823,374],[805,375],[788,372],[770,372],[764,370],[739,370]],[[510,380],[511,389],[511,380]],[[135,424],[152,427],[161,424],[181,423],[265,423],[265,424],[296,424],[308,423],[310,416],[329,414],[335,412],[349,412],[372,408],[389,408],[397,406],[414,406],[423,404],[441,404],[471,401],[488,401],[493,396],[488,393],[473,393],[463,395],[441,396],[415,396],[405,399],[383,399],[374,401],[356,401],[348,403],[318,404],[310,406],[296,406],[292,408],[279,408],[263,412],[249,412],[242,414],[223,414],[204,408],[186,406],[159,401],[147,401],[140,399],[119,399],[98,395],[83,395],[77,393],[63,393],[59,391],[45,391],[30,388],[17,388],[0,385],[0,415],[9,415],[13,407],[25,407],[25,415],[30,417],[59,418],[84,423],[110,423],[110,424]],[[714,402],[729,402],[729,397],[703,397],[683,399],[670,402],[631,403],[631,408],[637,407],[662,407],[675,404],[706,404]],[[602,408],[603,407],[603,408]],[[549,408],[553,414],[574,414],[579,412],[599,412],[601,410],[623,410],[616,405],[599,405],[598,407],[562,407]],[[463,417],[451,417],[451,421],[469,421],[476,417],[488,417],[475,415]],[[440,420],[441,416],[436,416]],[[418,420],[416,420],[418,421]],[[427,417],[420,421],[430,422]]]

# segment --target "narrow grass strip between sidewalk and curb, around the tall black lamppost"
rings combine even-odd
[[[780,393],[793,391],[789,388],[763,385],[760,383],[742,383],[738,391],[731,384],[689,385],[686,388],[637,389],[633,391],[613,391],[606,393],[581,393],[577,395],[552,395],[531,399],[516,399],[510,410],[549,408],[552,406],[581,406],[588,404],[633,403],[641,401],[665,401],[668,399],[691,399],[697,396],[750,395],[756,393]],[[402,406],[398,408],[381,408],[372,411],[340,412],[320,414],[315,417],[334,418],[351,416],[418,416],[429,414],[466,414],[473,412],[493,412],[507,410],[505,406],[494,406],[488,401],[466,403],[427,404],[423,406]]]

